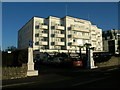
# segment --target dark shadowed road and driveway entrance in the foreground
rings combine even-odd
[[[3,80],[2,88],[119,88],[120,67],[94,70],[41,66],[39,76]]]

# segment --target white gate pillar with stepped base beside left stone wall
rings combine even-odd
[[[33,62],[33,48],[28,48],[28,70],[27,70],[27,76],[37,76],[38,70],[34,70],[34,62]]]

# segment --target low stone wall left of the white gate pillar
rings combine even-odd
[[[2,79],[16,79],[27,77],[27,64],[22,67],[3,67]]]

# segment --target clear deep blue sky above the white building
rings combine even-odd
[[[68,16],[90,20],[104,31],[118,29],[117,2],[3,2],[3,50],[12,45],[17,47],[18,30],[33,16],[64,17],[66,4]]]

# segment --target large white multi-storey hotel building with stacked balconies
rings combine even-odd
[[[91,43],[95,51],[102,51],[102,29],[90,21],[65,16],[63,18],[33,17],[18,31],[18,49],[25,49],[32,40],[33,50],[40,52],[79,51],[79,43]],[[84,52],[86,48],[82,48]]]

